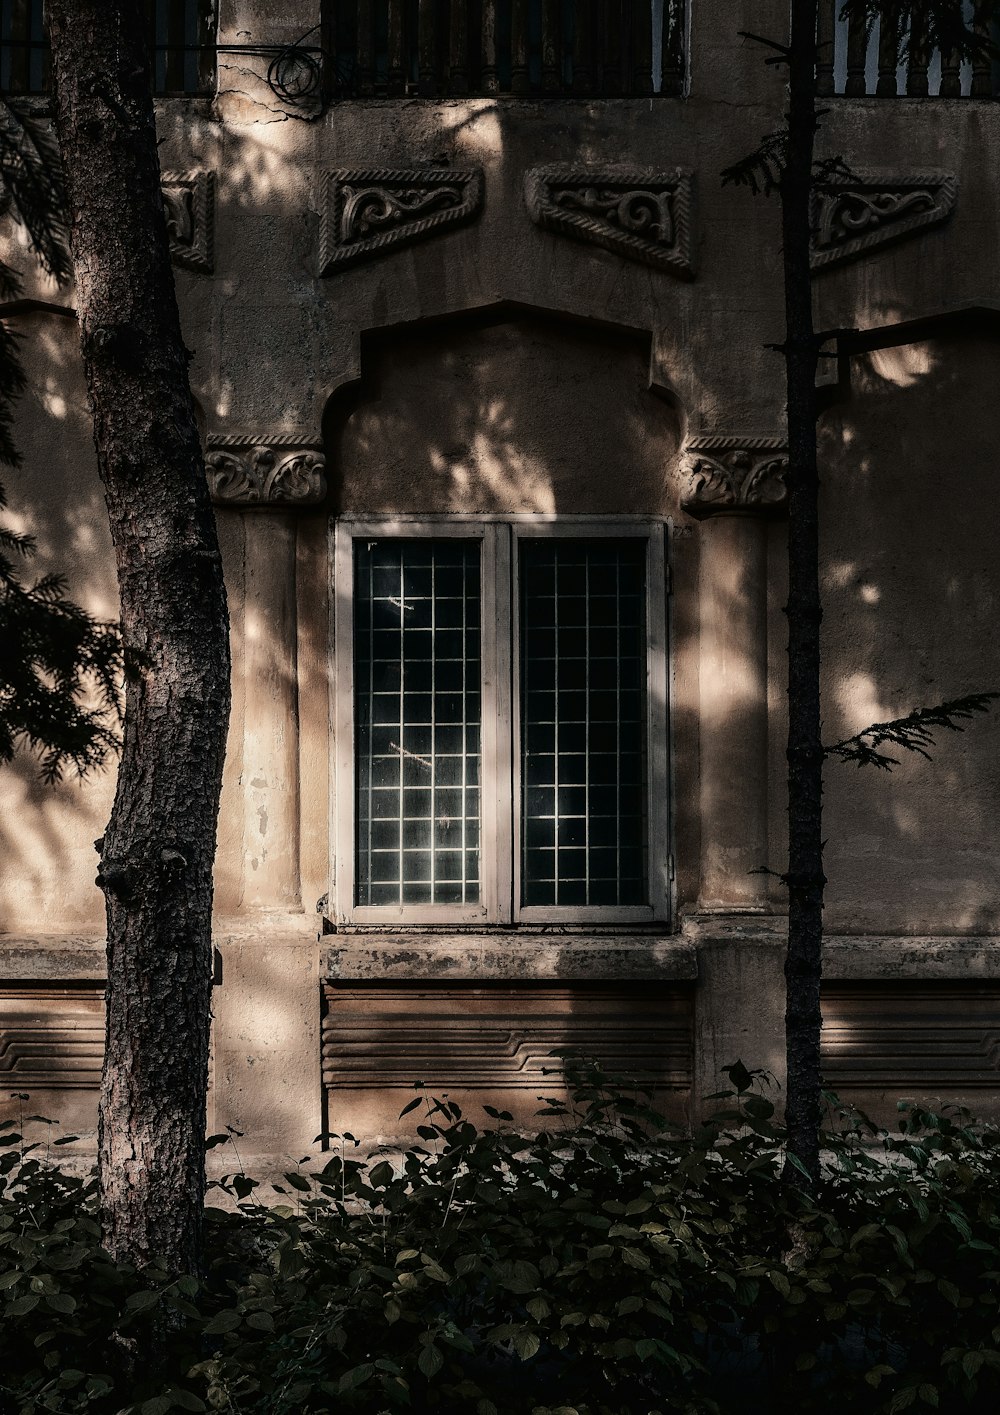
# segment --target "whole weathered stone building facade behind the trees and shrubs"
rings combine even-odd
[[[414,1081],[528,1118],[560,1046],[678,1115],[736,1057],[781,1077],[778,211],[720,173],[781,119],[738,31],[786,4],[187,13],[160,153],[235,661],[211,1128],[280,1163],[400,1133]],[[1000,110],[823,23],[836,740],[1000,688]],[[112,616],[72,291],[3,242],[11,511]],[[999,746],[827,771],[826,1075],[877,1114],[997,1101]],[[0,774],[0,1109],[85,1142],[112,788]]]

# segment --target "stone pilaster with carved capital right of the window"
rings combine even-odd
[[[700,437],[685,447],[682,507],[700,536],[699,908],[758,911],[768,860],[767,516],[784,512],[778,439]]]

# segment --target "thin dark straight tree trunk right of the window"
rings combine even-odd
[[[781,180],[788,379],[788,954],[785,958],[789,1150],[819,1176],[819,985],[823,945],[823,746],[819,703],[819,475],[816,354],[809,270],[809,192],[816,134],[818,0],[795,0],[788,153]]]

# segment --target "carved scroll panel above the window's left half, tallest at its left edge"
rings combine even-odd
[[[478,167],[342,167],[327,173],[320,275],[458,226],[481,209]]]

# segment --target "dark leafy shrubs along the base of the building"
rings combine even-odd
[[[338,1136],[276,1206],[239,1167],[204,1281],[112,1264],[93,1182],[8,1124],[0,1409],[996,1411],[996,1131],[904,1102],[888,1135],[832,1105],[810,1196],[761,1073],[731,1067],[683,1136],[567,1065],[574,1107],[535,1138],[417,1097],[419,1145],[362,1160]]]

